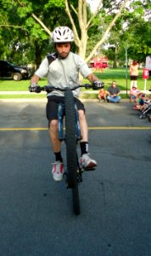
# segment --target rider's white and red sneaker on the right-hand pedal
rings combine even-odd
[[[82,154],[79,160],[80,167],[83,169],[94,169],[97,166],[96,160],[92,160],[88,154]]]

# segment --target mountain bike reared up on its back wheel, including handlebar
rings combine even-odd
[[[103,88],[103,86],[103,83],[101,83],[100,86],[96,86],[94,84],[77,84],[73,88],[65,87],[64,89],[51,85],[45,85],[43,87],[40,87],[38,85],[36,86],[36,89],[32,89],[32,87],[30,87],[30,91],[36,93],[39,93],[42,90],[46,91],[47,93],[52,92],[53,90],[64,91],[64,103],[59,103],[58,110],[59,140],[61,142],[64,141],[66,144],[67,171],[64,172],[64,177],[67,183],[67,189],[72,189],[73,208],[76,215],[79,215],[81,213],[78,183],[82,182],[82,172],[84,170],[79,165],[76,149],[78,141],[81,140],[81,129],[78,118],[78,111],[76,108],[76,103],[74,102],[72,90],[76,90],[80,87],[98,90]]]

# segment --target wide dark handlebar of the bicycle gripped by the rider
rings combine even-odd
[[[76,86],[74,86],[73,88],[70,88],[70,90],[76,90],[80,87],[84,87],[85,89],[92,89],[92,90],[99,90],[101,88],[104,87],[104,84],[103,83],[100,83],[100,86],[96,86],[94,84],[77,84]],[[39,93],[41,92],[42,90],[43,91],[46,91],[46,92],[52,92],[53,90],[60,90],[60,91],[65,91],[67,90],[69,87],[64,87],[64,88],[59,88],[59,87],[55,87],[53,85],[44,85],[44,86],[35,86],[35,87],[29,87],[29,90],[30,92],[36,92],[36,93]]]

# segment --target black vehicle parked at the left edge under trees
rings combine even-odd
[[[0,78],[20,81],[21,79],[29,79],[31,75],[29,67],[16,66],[8,61],[0,61]]]

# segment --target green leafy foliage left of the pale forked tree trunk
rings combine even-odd
[[[2,0],[1,5],[0,24],[3,26],[0,38],[3,41],[0,43],[0,58],[19,64],[36,61],[38,66],[52,46],[48,33],[31,14],[34,13],[51,31],[62,20],[66,23],[64,11],[61,11],[64,10],[64,0]]]

